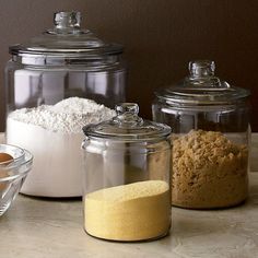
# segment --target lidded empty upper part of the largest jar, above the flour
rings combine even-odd
[[[58,12],[55,27],[10,47],[5,84],[8,112],[72,97],[115,107],[125,102],[122,47],[80,26],[80,12]]]

